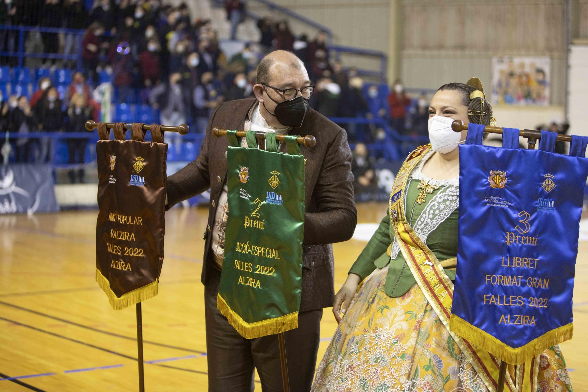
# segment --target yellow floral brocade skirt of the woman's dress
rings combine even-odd
[[[387,271],[375,270],[356,293],[311,391],[487,391],[417,284],[386,295]],[[537,384],[537,392],[572,391],[559,346],[541,354]]]

